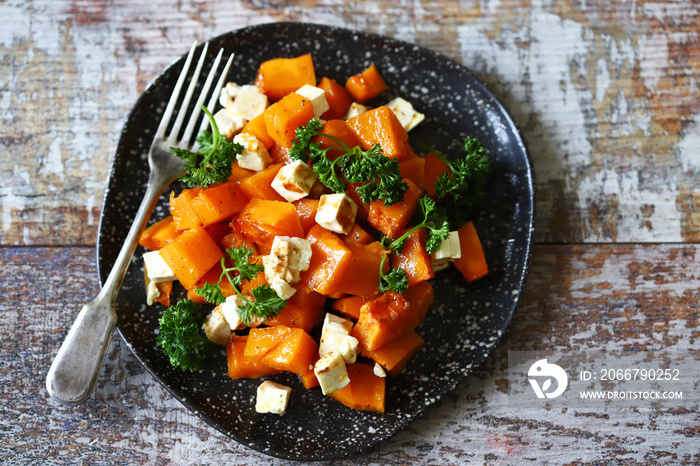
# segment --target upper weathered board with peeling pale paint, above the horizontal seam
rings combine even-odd
[[[94,244],[148,81],[195,38],[270,21],[376,32],[474,70],[532,153],[538,241],[698,241],[699,15],[683,1],[2,2],[0,244]]]

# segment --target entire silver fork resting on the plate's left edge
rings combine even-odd
[[[124,245],[119,251],[117,260],[102,290],[94,301],[86,304],[80,310],[77,319],[68,332],[63,345],[61,345],[61,348],[58,350],[58,354],[46,376],[46,389],[54,399],[61,403],[69,405],[83,403],[90,397],[90,394],[95,388],[97,377],[104,364],[107,349],[109,348],[109,343],[114,333],[114,328],[117,325],[117,314],[115,311],[117,294],[124,280],[124,275],[126,275],[126,271],[129,268],[131,257],[136,250],[138,238],[148,222],[148,218],[155,207],[158,197],[165,191],[170,183],[184,173],[184,162],[170,152],[170,147],[191,147],[193,151],[198,149],[197,143],[195,142],[192,146],[190,141],[192,140],[193,131],[201,114],[201,107],[204,104],[204,100],[207,98],[211,83],[216,75],[216,70],[221,62],[223,50],[219,51],[219,54],[212,64],[211,71],[203,84],[202,91],[199,94],[199,98],[197,99],[182,136],[179,136],[179,134],[192,94],[199,80],[200,71],[204,65],[208,46],[209,44],[204,45],[202,54],[199,57],[182,104],[180,105],[177,118],[173,123],[170,134],[168,137],[165,137],[166,129],[170,124],[170,119],[173,116],[173,111],[180,96],[180,91],[187,79],[187,74],[197,47],[196,41],[187,55],[185,65],[175,84],[175,89],[170,96],[170,100],[168,101],[168,105],[163,113],[160,125],[158,126],[158,130],[156,131],[153,143],[148,152],[148,165],[150,167],[148,185],[146,194],[136,213],[136,218],[129,229]],[[214,86],[214,90],[207,103],[207,109],[209,110],[213,109],[216,104],[219,91],[228,75],[232,60],[233,54],[229,57],[228,62],[224,66]],[[206,117],[203,118],[199,130],[206,129],[208,125],[209,120]]]

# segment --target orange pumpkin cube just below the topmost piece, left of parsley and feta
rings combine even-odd
[[[267,107],[263,115],[270,137],[283,147],[292,147],[297,127],[314,117],[314,107],[309,99],[292,92]]]

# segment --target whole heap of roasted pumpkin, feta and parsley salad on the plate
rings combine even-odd
[[[488,273],[474,224],[458,219],[489,172],[471,137],[461,158],[417,155],[408,132],[422,114],[402,98],[365,105],[386,88],[374,65],[342,85],[317,81],[311,55],[268,60],[205,110],[211,131],[196,152],[173,149],[185,188],[140,238],[173,366],[197,371],[223,345],[232,379],[292,372],[384,412],[387,374],[424,345],[429,280],[450,264],[467,281]],[[176,281],[187,297],[171,303]],[[291,390],[265,380],[255,409],[284,413]]]

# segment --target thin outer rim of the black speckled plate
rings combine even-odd
[[[534,233],[534,217],[535,217],[535,184],[534,184],[534,173],[532,170],[532,161],[531,161],[531,156],[529,151],[527,150],[527,147],[524,143],[524,140],[522,138],[522,134],[513,121],[512,117],[510,114],[507,112],[503,104],[499,101],[499,99],[493,95],[493,93],[478,79],[476,78],[466,67],[464,67],[461,64],[456,63],[454,60],[451,60],[444,55],[441,55],[437,52],[434,52],[432,50],[426,49],[421,46],[417,46],[415,44],[410,44],[405,41],[397,40],[397,39],[391,39],[387,37],[383,37],[380,35],[372,34],[372,33],[366,33],[366,32],[361,32],[361,31],[354,31],[354,30],[349,30],[345,28],[340,28],[340,27],[335,27],[335,26],[327,26],[327,25],[320,25],[320,24],[313,24],[313,23],[295,23],[295,22],[285,22],[285,23],[264,23],[264,24],[259,24],[259,25],[254,25],[254,26],[249,26],[241,29],[237,29],[225,34],[222,34],[220,36],[214,37],[210,40],[210,42],[219,42],[224,40],[227,36],[232,36],[232,35],[237,35],[237,34],[250,34],[253,32],[260,33],[265,30],[276,30],[277,28],[291,28],[296,31],[302,31],[305,28],[323,28],[326,29],[329,33],[342,33],[342,34],[352,34],[354,36],[360,37],[363,40],[367,41],[372,41],[372,42],[378,42],[378,43],[384,43],[386,45],[401,45],[401,46],[407,46],[413,48],[415,51],[417,51],[420,54],[425,54],[428,56],[431,56],[433,59],[440,60],[440,61],[447,61],[452,63],[453,65],[458,66],[459,68],[462,69],[464,72],[465,76],[469,76],[472,80],[470,83],[470,86],[474,87],[477,89],[481,94],[484,96],[488,96],[490,99],[490,104],[493,105],[493,107],[498,110],[500,113],[501,117],[507,122],[508,129],[512,132],[512,134],[515,136],[517,140],[517,147],[519,149],[520,154],[523,156],[523,161],[525,162],[525,172],[524,175],[522,176],[522,179],[520,181],[524,181],[527,186],[527,191],[529,194],[529,199],[527,199],[528,203],[528,213],[526,217],[526,222],[525,224],[521,225],[522,228],[526,229],[525,232],[525,241],[524,241],[524,255],[522,257],[522,268],[520,270],[520,274],[517,277],[517,287],[514,287],[514,290],[517,290],[518,293],[521,293],[522,290],[524,289],[525,286],[525,281],[527,277],[527,272],[529,269],[530,261],[531,261],[531,255],[532,255],[532,240],[533,240],[533,233]],[[174,60],[168,67],[166,67],[163,72],[161,72],[157,77],[155,77],[153,80],[149,82],[147,85],[146,89],[144,92],[139,96],[137,99],[136,103],[134,104],[134,107],[131,109],[129,116],[127,118],[127,123],[132,119],[133,115],[136,113],[136,109],[139,107],[139,105],[142,103],[144,100],[144,97],[146,93],[149,91],[149,89],[154,86],[158,80],[166,73],[168,72],[171,68],[173,67],[180,67],[181,63],[184,61],[184,55],[176,60]],[[122,128],[120,138],[119,138],[119,145],[117,147],[117,152],[119,152],[122,149],[122,140],[123,137],[127,134],[127,124],[124,125]],[[112,179],[112,171],[114,171],[115,167],[112,165],[112,169],[110,171],[110,177],[109,179]],[[107,202],[108,198],[108,191],[105,192],[105,196],[103,199],[103,204],[102,204],[102,212],[105,211],[105,205]],[[99,231],[102,231],[102,226],[103,226],[103,215],[100,215],[100,221],[99,221],[99,226],[98,229]],[[103,284],[104,281],[106,280],[106,274],[100,273],[100,248],[101,248],[101,235],[98,235],[97,239],[97,265],[98,265],[98,275],[100,279],[100,283]],[[509,328],[510,322],[512,321],[513,315],[515,314],[517,307],[519,304],[519,299],[514,299],[513,303],[510,307],[510,313],[507,315],[507,318],[503,321],[501,331],[505,333],[505,331]],[[192,403],[190,403],[189,400],[183,399],[180,397],[179,393],[177,393],[166,381],[164,381],[158,373],[155,372],[155,370],[148,364],[146,361],[144,361],[140,355],[134,350],[132,347],[131,343],[129,340],[125,337],[122,328],[118,325],[117,326],[117,331],[119,332],[122,340],[126,343],[126,345],[130,348],[136,359],[146,368],[146,370],[156,379],[158,382],[170,393],[173,397],[178,399],[185,407],[187,407],[191,412],[196,414],[198,417],[200,417],[202,420],[204,420],[208,425],[214,427],[215,429],[219,430],[222,432],[224,435],[227,435],[230,438],[233,438],[234,440],[238,441],[240,444],[248,446],[249,448],[255,449],[257,451],[260,451],[261,453],[264,453],[269,456],[273,457],[278,457],[278,458],[283,458],[283,459],[293,459],[293,460],[329,460],[329,459],[337,459],[337,458],[343,458],[343,457],[348,457],[354,454],[357,454],[361,451],[367,450],[368,448],[383,442],[384,440],[387,440],[388,438],[392,437],[399,431],[401,431],[403,428],[405,428],[408,424],[411,422],[415,421],[417,418],[422,416],[425,411],[429,408],[429,406],[434,405],[435,401],[440,399],[445,393],[450,392],[456,388],[456,386],[463,382],[468,375],[473,372],[473,370],[478,367],[483,361],[488,357],[489,354],[491,354],[495,348],[498,346],[498,342],[500,341],[500,337],[498,341],[496,341],[493,346],[488,348],[488,351],[484,353],[480,353],[478,356],[476,356],[473,360],[473,363],[470,365],[470,368],[468,370],[465,370],[462,374],[461,378],[454,379],[451,381],[449,384],[445,384],[442,386],[442,388],[434,393],[434,400],[423,406],[422,408],[419,408],[416,410],[415,413],[413,413],[411,416],[405,416],[402,418],[400,422],[397,422],[394,425],[393,430],[388,432],[386,435],[377,435],[370,441],[357,445],[355,447],[351,447],[345,450],[340,450],[340,451],[326,451],[323,454],[320,455],[311,455],[308,457],[300,457],[299,455],[289,455],[285,454],[285,452],[279,452],[279,451],[263,451],[260,448],[257,448],[254,444],[251,444],[248,442],[248,439],[243,438],[237,434],[235,434],[232,431],[227,431],[225,429],[222,429],[222,426],[220,426],[216,421],[212,420],[209,416],[206,414],[202,413],[199,411],[198,407]],[[502,333],[500,333],[502,337]]]

